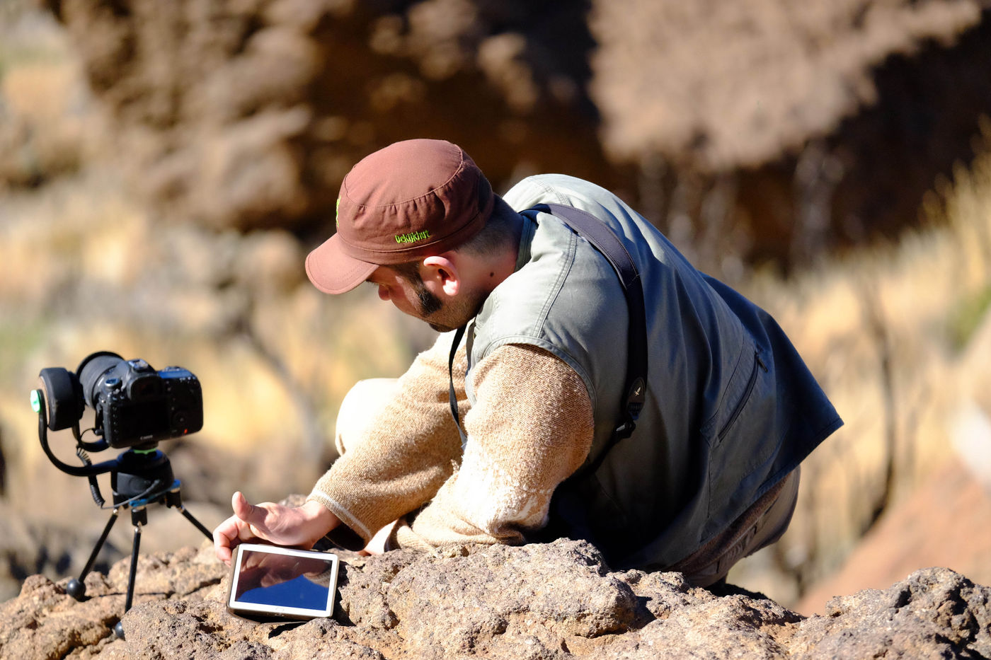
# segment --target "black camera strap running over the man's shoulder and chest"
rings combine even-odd
[[[615,429],[606,447],[589,466],[589,472],[595,472],[602,465],[606,454],[613,446],[624,438],[628,438],[636,428],[636,420],[643,409],[647,389],[647,315],[643,302],[643,285],[640,274],[636,270],[633,259],[615,233],[605,222],[596,216],[573,206],[563,204],[538,204],[531,210],[549,213],[564,222],[576,234],[587,240],[598,250],[619,277],[619,283],[626,297],[629,310],[629,324],[626,330],[626,380],[623,389],[623,399],[620,405],[620,415]],[[449,397],[451,414],[461,435],[462,450],[468,444],[468,436],[461,428],[458,416],[458,399],[454,392],[454,356],[458,346],[465,336],[466,325],[454,333],[451,344],[451,355],[448,360],[448,376],[450,378]]]

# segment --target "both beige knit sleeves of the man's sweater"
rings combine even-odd
[[[462,456],[448,401],[450,341],[442,335],[417,358],[396,397],[370,420],[367,437],[308,497],[366,542],[397,518],[391,547],[522,542],[527,529],[546,523],[555,487],[592,445],[592,402],[563,361],[530,346],[496,349],[472,372],[469,410],[457,379],[467,365],[462,347],[454,371],[469,437]]]

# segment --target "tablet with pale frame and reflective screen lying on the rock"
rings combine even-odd
[[[337,555],[275,545],[235,548],[227,608],[248,617],[330,616],[337,591]]]

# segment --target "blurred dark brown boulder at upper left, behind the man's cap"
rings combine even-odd
[[[585,91],[594,43],[584,5],[40,4],[112,118],[103,139],[134,174],[130,186],[171,219],[322,235],[351,165],[420,136],[484,155],[497,184],[553,163],[616,180]]]

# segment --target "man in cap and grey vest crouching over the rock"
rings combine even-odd
[[[603,255],[533,209],[545,203],[605,223],[642,281],[646,394],[614,444],[627,303]],[[780,537],[799,463],[842,424],[769,315],[588,181],[531,176],[500,198],[459,147],[411,140],[354,166],[337,223],[306,259],[313,284],[336,294],[369,281],[447,334],[397,381],[348,394],[342,456],[304,505],[234,495],[214,531],[224,561],[255,539],[310,547],[329,534],[360,548],[385,530],[386,547],[430,549],[569,535],[613,569],[709,586]],[[449,364],[449,331],[466,325]]]

